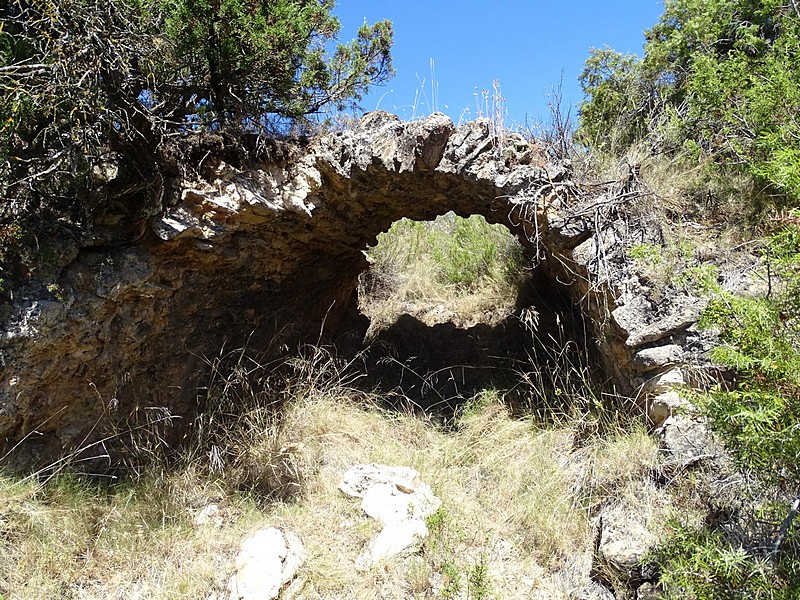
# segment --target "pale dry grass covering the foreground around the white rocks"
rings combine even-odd
[[[227,438],[262,464],[288,457],[302,471],[292,471],[302,488],[288,499],[268,500],[258,486],[237,491],[239,475],[213,477],[186,464],[111,489],[67,476],[44,486],[0,479],[0,593],[206,598],[223,593],[240,540],[274,525],[293,530],[308,550],[304,598],[474,598],[481,589],[567,598],[588,578],[594,506],[626,497],[658,512],[657,500],[636,497],[656,460],[638,429],[577,445],[579,424],[512,418],[499,393],[485,392],[445,431],[308,377],[287,388],[279,426],[256,435],[267,431],[264,420],[243,415]],[[443,507],[420,553],[357,571],[376,524],[338,483],[369,462],[414,467]],[[193,525],[211,501],[223,507],[223,525]]]

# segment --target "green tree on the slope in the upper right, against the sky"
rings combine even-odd
[[[749,173],[800,200],[800,13],[778,0],[668,0],[644,57],[595,50],[581,84],[584,142],[646,140]],[[664,127],[671,129],[664,134]]]

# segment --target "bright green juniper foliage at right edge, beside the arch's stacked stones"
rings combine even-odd
[[[741,379],[735,390],[699,398],[715,428],[748,469],[797,494],[800,481],[800,227],[768,241],[766,298],[717,291],[700,324],[719,332],[713,359]]]

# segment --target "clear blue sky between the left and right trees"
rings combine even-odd
[[[663,8],[661,0],[338,0],[334,12],[342,40],[364,19],[394,23],[397,74],[364,99],[365,110],[409,119],[437,108],[458,123],[477,116],[475,94],[482,103],[482,90],[498,80],[507,124],[524,125],[547,118],[562,71],[565,104],[581,100],[577,79],[590,48],[641,55],[643,31]]]

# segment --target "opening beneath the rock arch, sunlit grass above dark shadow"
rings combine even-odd
[[[366,256],[360,364],[388,405],[447,421],[491,389],[515,411],[568,410],[592,345],[580,311],[509,228],[477,214],[403,218]]]

